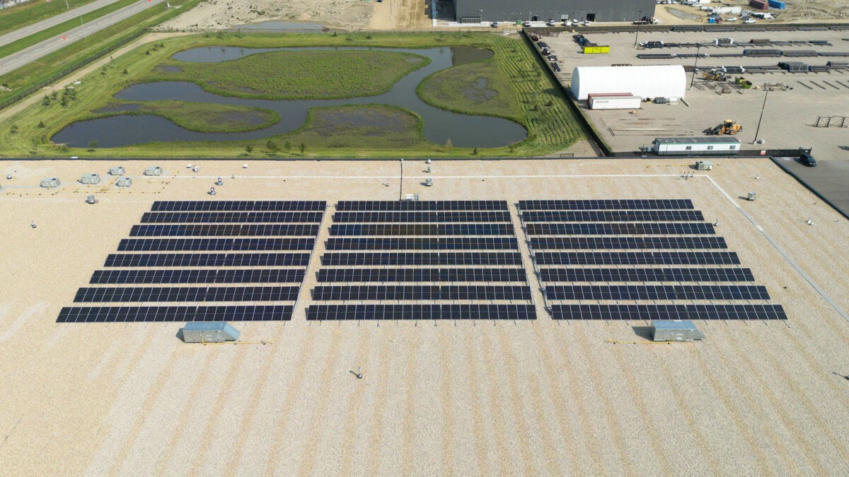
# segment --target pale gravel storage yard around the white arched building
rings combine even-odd
[[[753,32],[641,32],[635,33],[588,33],[589,41],[599,45],[610,45],[610,54],[583,54],[572,38],[571,32],[561,32],[559,36],[544,36],[554,54],[559,59],[561,72],[559,78],[569,86],[572,69],[576,65],[696,65],[699,70],[720,66],[765,66],[778,65],[779,61],[802,61],[809,65],[825,65],[829,59],[846,61],[846,57],[711,57],[714,54],[742,53],[748,48],[769,48],[787,51],[814,50],[824,53],[849,52],[849,32],[846,31],[753,31]],[[715,36],[730,36],[740,47],[720,48],[706,46],[698,53],[708,56],[683,59],[638,59],[638,53],[684,53],[693,55],[697,48],[651,48],[638,49],[638,42],[697,42],[712,43]],[[768,38],[779,45],[754,46],[752,39]],[[828,45],[796,43],[802,41],[827,41]],[[788,44],[788,42],[794,42]],[[718,93],[715,81],[706,81],[700,73],[693,81],[693,87],[686,95],[686,103],[647,104],[636,113],[630,110],[585,109],[590,121],[599,131],[611,149],[617,151],[638,150],[648,146],[655,137],[701,136],[709,126],[715,126],[725,119],[733,119],[743,126],[739,140],[744,149],[758,147],[769,149],[795,149],[811,147],[813,155],[820,162],[816,168],[799,166],[798,174],[809,180],[812,187],[818,188],[829,199],[849,210],[849,188],[845,187],[849,178],[849,137],[847,128],[835,126],[839,117],[849,116],[849,70],[832,70],[828,73],[788,73],[775,71],[770,73],[743,74],[755,87],[765,83],[782,83],[787,91],[765,93],[763,89],[738,89],[727,85],[730,93]],[[692,80],[689,73],[688,81]],[[761,128],[757,134],[762,138],[762,146],[754,144],[758,119],[763,109]],[[586,108],[586,104],[582,104]],[[819,117],[838,116],[832,126],[814,126]],[[849,119],[844,123],[849,126]],[[798,165],[794,165],[798,166]],[[836,177],[836,178],[835,178]]]

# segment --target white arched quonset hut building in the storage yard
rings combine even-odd
[[[677,101],[687,92],[687,74],[682,65],[576,66],[571,92],[578,100],[593,93],[627,92],[644,99]]]

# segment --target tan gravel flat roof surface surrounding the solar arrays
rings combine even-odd
[[[684,179],[678,158],[408,159],[403,182],[398,160],[158,160],[162,177],[143,176],[151,160],[121,161],[131,188],[112,186],[109,160],[0,162],[14,250],[0,287],[0,377],[14,390],[0,398],[3,471],[846,469],[849,395],[832,372],[849,374],[849,323],[829,300],[849,310],[849,221],[767,158],[711,161]],[[106,179],[37,187],[87,171]],[[751,190],[761,198],[739,199]],[[333,205],[416,193],[508,201],[537,320],[306,321]],[[231,322],[243,344],[216,346],[183,344],[183,323],[56,323],[155,200],[188,199],[328,201],[290,322]],[[647,321],[555,322],[514,207],[523,199],[692,199],[789,319],[696,321],[710,340],[671,345],[627,344],[651,340]]]

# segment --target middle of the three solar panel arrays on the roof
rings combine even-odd
[[[329,232],[308,320],[537,317],[506,201],[342,201]]]

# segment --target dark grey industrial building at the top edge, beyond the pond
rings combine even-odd
[[[455,20],[633,21],[655,14],[655,0],[454,0]]]

